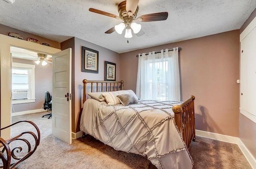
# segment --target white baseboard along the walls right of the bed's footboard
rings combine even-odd
[[[253,157],[252,153],[250,153],[250,151],[246,148],[246,146],[240,140],[240,138],[233,137],[233,136],[226,136],[223,134],[205,132],[201,130],[196,130],[196,136],[201,136],[201,137],[210,138],[218,141],[237,144],[241,149],[242,153],[244,154],[244,157],[246,157],[248,163],[252,166],[252,169],[256,169],[256,159]]]

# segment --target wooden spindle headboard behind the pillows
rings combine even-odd
[[[111,92],[116,90],[123,90],[124,81],[88,81],[83,80],[84,83],[84,102],[86,101],[87,85],[91,88],[90,92]],[[95,86],[96,85],[96,86]],[[94,90],[96,87],[96,90]],[[99,91],[100,89],[100,91]]]

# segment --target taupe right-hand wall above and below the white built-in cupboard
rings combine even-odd
[[[244,22],[240,29],[240,33],[252,22],[256,17],[256,9],[252,12],[250,17]],[[239,138],[242,140],[247,149],[256,158],[256,123],[248,119],[246,116],[240,114],[239,116]]]

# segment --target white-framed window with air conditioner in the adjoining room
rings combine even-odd
[[[12,63],[12,104],[35,102],[35,65]]]

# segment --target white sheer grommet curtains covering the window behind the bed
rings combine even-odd
[[[139,54],[136,94],[146,100],[180,101],[178,47]]]

